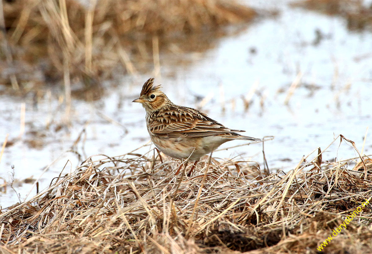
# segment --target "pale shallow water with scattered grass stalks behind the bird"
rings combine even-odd
[[[255,4],[260,7],[260,2]],[[290,170],[302,155],[317,147],[323,150],[338,134],[355,141],[361,150],[368,126],[364,153],[371,154],[372,33],[350,32],[341,17],[293,9],[283,3],[275,7],[280,10],[275,19],[247,25],[243,32],[221,39],[204,53],[163,54],[157,75],[121,77],[118,86],[104,84],[110,88],[107,96],[90,103],[73,100],[69,114],[58,102],[58,90],[47,93],[37,108],[32,96],[1,96],[0,139],[9,134],[8,141],[13,144],[1,159],[0,185],[16,179],[13,188],[1,188],[1,206],[36,193],[34,181],[28,184],[24,179],[40,179],[42,190],[65,165],[63,174],[93,154],[121,155],[147,143],[145,111],[131,101],[144,81],[153,76],[176,104],[200,107],[225,126],[246,130],[248,136],[275,136],[265,143],[270,170]],[[324,35],[320,41],[317,30]],[[301,76],[301,82],[286,105],[296,76]],[[252,101],[245,109],[242,96],[247,95]],[[25,134],[18,139],[21,103],[26,106],[26,124]],[[70,125],[64,125],[68,122]],[[221,148],[240,144],[245,142],[228,142]],[[347,145],[337,152],[338,145],[339,141],[323,159],[357,156]],[[78,151],[80,160],[68,150]],[[238,155],[263,168],[261,144],[214,153],[215,157]]]

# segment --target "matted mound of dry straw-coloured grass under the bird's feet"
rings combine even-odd
[[[205,158],[191,177],[175,176],[176,163],[155,150],[91,157],[0,213],[0,252],[317,253],[371,197],[372,160],[314,152],[287,174]],[[371,222],[369,205],[325,252],[370,253]]]

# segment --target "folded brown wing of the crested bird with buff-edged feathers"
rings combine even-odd
[[[177,138],[200,137],[243,132],[226,128],[196,109],[171,107],[151,118],[150,131],[157,136]]]

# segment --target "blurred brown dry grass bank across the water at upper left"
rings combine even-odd
[[[225,25],[256,16],[230,0],[82,2],[1,1],[1,83],[30,91],[70,78],[100,96],[99,80],[148,71],[159,49],[204,51],[225,33]]]

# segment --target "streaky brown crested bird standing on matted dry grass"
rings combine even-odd
[[[203,155],[227,141],[263,141],[243,136],[238,132],[245,131],[227,128],[197,109],[174,104],[160,88],[160,85],[154,86],[154,78],[150,78],[142,86],[140,97],[132,102],[141,103],[145,108],[147,131],[155,147],[169,157],[186,160],[185,170],[188,161],[195,161],[188,175]]]

